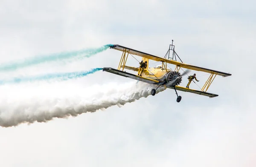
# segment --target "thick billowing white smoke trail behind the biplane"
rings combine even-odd
[[[118,105],[121,107],[151,95],[155,86],[148,83],[110,83],[91,87],[56,86],[0,87],[0,126],[12,127],[21,123],[47,122],[85,112]],[[157,93],[166,89],[160,87]]]

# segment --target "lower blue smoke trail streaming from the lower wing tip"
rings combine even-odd
[[[102,68],[95,68],[95,69],[90,69],[89,71],[81,71],[81,72],[53,73],[53,74],[46,74],[46,75],[32,76],[32,77],[13,78],[12,80],[9,80],[9,81],[4,81],[4,80],[0,81],[0,84],[2,85],[6,83],[48,81],[51,79],[60,79],[61,81],[66,81],[68,79],[85,77],[86,75],[93,74],[99,70],[102,70]]]

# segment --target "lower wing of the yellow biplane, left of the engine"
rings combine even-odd
[[[118,69],[112,69],[111,67],[103,68],[103,71],[111,72],[111,73],[116,74],[116,75],[121,75],[123,77],[132,78],[132,79],[135,79],[135,80],[138,80],[138,81],[143,81],[143,82],[146,82],[146,83],[151,83],[151,84],[159,83],[159,81],[157,81],[157,80],[150,79],[150,78],[145,78],[145,77],[140,77],[139,75],[134,75],[134,74],[131,74],[131,73],[128,73],[128,72],[120,71]]]

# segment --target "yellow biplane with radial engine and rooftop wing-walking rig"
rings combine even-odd
[[[177,90],[180,90],[183,92],[195,93],[198,95],[204,95],[204,96],[208,96],[209,98],[216,97],[218,95],[207,92],[207,89],[211,85],[212,81],[215,79],[216,75],[220,75],[222,77],[227,77],[227,76],[231,75],[231,74],[225,73],[225,72],[219,72],[219,71],[215,71],[212,69],[206,69],[206,68],[202,68],[202,67],[198,67],[198,66],[189,65],[189,64],[183,63],[182,60],[180,60],[181,62],[177,61],[177,58],[179,58],[179,56],[175,52],[175,46],[173,45],[173,40],[172,40],[172,44],[169,46],[169,50],[166,53],[166,55],[164,56],[164,58],[150,55],[150,54],[140,52],[140,51],[130,49],[128,47],[120,46],[120,45],[113,45],[113,46],[110,46],[110,48],[122,51],[122,57],[121,57],[121,60],[119,62],[119,66],[117,69],[113,69],[111,67],[106,67],[106,68],[103,68],[103,71],[111,72],[116,75],[121,75],[121,76],[132,78],[132,79],[135,79],[138,81],[143,81],[146,83],[157,85],[156,89],[158,89],[160,86],[165,86],[166,88],[174,89],[176,92],[176,95],[177,95],[177,100],[176,100],[177,102],[180,102],[180,100],[181,100],[181,96],[179,96],[177,94]],[[171,50],[173,52],[170,55]],[[136,55],[136,56],[142,57],[143,63],[145,61],[147,61],[147,65],[145,66],[145,69],[142,72],[142,76],[134,75],[134,74],[124,71],[124,69],[129,69],[129,70],[133,70],[133,71],[137,71],[137,72],[139,71],[139,67],[131,67],[131,66],[125,65],[128,55],[132,55],[132,56]],[[168,58],[167,58],[167,56],[168,56]],[[149,59],[162,62],[162,64],[149,68],[148,67]],[[176,65],[175,70],[168,69],[167,63]],[[183,72],[183,74],[180,74],[180,72],[179,72],[180,68],[186,69]],[[205,82],[205,84],[201,90],[189,89],[186,87],[178,86],[182,81],[182,76],[185,75],[189,70],[210,73],[208,80]],[[154,96],[156,94],[156,89],[151,90],[151,95]]]

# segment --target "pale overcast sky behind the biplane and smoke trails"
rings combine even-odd
[[[179,92],[177,103],[168,89],[122,107],[0,127],[0,166],[256,166],[255,6],[253,0],[0,0],[0,63],[108,43],[163,57],[173,39],[183,62],[232,74],[215,78],[208,92],[216,98]],[[121,55],[108,49],[79,62],[32,66],[12,75],[117,68]],[[138,64],[129,57],[127,65]],[[201,75],[197,72],[200,87],[207,80]],[[101,71],[58,89],[69,89],[73,97],[81,93],[78,85],[97,92],[96,83],[128,82],[134,81]],[[182,86],[186,83],[185,77]],[[29,103],[22,92],[26,98],[51,95],[49,89],[32,89],[36,86],[16,86],[1,99],[20,97],[13,107]]]

